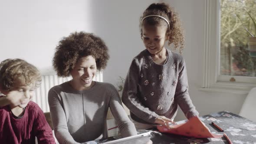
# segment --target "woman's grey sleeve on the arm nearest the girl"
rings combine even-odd
[[[129,137],[137,135],[135,125],[130,121],[125,109],[122,107],[121,99],[115,87],[112,85],[111,98],[109,101],[109,107],[115,121],[118,124],[122,137]]]

